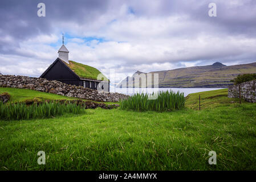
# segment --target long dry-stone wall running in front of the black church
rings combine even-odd
[[[25,88],[99,102],[118,102],[128,97],[120,93],[102,92],[82,86],[67,85],[56,80],[49,81],[27,76],[0,75],[0,87]]]

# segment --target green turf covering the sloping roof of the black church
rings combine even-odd
[[[80,78],[88,78],[92,80],[108,80],[107,77],[103,75],[103,78],[97,78],[97,76],[101,73],[94,67],[90,67],[85,64],[76,63],[75,61],[68,61],[69,64],[66,65],[72,69]],[[102,74],[102,73],[101,73]]]

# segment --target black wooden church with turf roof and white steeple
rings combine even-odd
[[[110,81],[99,70],[89,65],[68,60],[69,51],[64,46],[64,37],[62,39],[58,58],[43,72],[40,78],[109,92]]]

